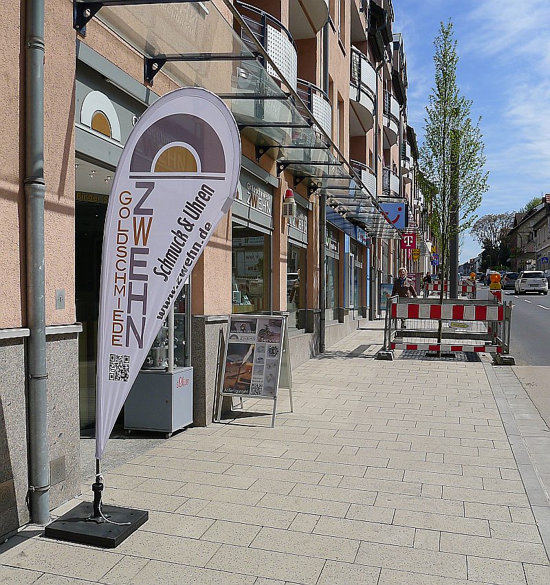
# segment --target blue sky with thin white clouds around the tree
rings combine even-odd
[[[489,191],[478,210],[516,211],[550,192],[550,2],[393,0],[394,32],[403,33],[408,67],[408,122],[423,142],[433,86],[433,40],[449,18],[458,41],[457,82],[481,115]],[[460,262],[479,245],[466,236]]]

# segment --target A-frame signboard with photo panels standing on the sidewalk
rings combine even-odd
[[[273,401],[272,427],[275,426],[279,388],[289,391],[292,404],[292,374],[286,316],[231,315],[216,422],[221,421],[223,396],[266,399]]]

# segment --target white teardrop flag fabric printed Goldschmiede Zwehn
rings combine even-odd
[[[124,146],[103,236],[97,459],[171,305],[231,207],[240,167],[232,113],[197,87],[159,98]]]

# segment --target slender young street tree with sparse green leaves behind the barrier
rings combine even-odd
[[[448,273],[452,239],[472,226],[488,189],[481,118],[472,122],[472,102],[456,85],[456,45],[452,22],[441,23],[434,40],[434,87],[419,157],[419,186],[430,210],[428,222],[439,244],[443,274]]]

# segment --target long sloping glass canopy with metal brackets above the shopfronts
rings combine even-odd
[[[295,184],[305,181],[311,194],[324,193],[338,200],[345,217],[366,232],[399,239],[376,194],[361,183],[295,89],[278,74],[229,0],[223,0],[220,8],[210,1],[188,0],[77,1],[76,8],[75,26],[80,32],[85,34],[79,18],[85,15],[85,26],[95,16],[144,56],[149,82],[154,83],[162,69],[180,86],[205,87],[217,93],[230,107],[241,133],[256,144],[256,157],[269,152],[278,162],[279,172],[291,171]],[[268,66],[276,78],[267,72]],[[298,107],[307,112],[309,120]]]

